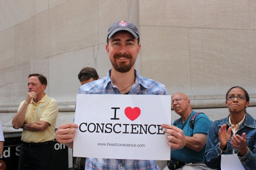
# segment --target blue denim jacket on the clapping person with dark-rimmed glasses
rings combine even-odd
[[[204,163],[213,169],[220,170],[221,169],[221,154],[235,154],[238,153],[237,149],[234,149],[231,146],[231,138],[227,143],[227,150],[221,151],[219,146],[219,129],[221,125],[227,124],[227,129],[230,127],[230,123],[228,121],[228,117],[214,121],[212,124],[209,133],[207,135],[206,147],[203,161]],[[236,134],[242,136],[243,133],[246,133],[246,145],[248,146],[249,150],[245,156],[239,157],[242,165],[246,170],[255,170],[256,167],[256,120],[246,112],[245,120],[243,124],[239,127]],[[233,132],[231,131],[231,136]]]

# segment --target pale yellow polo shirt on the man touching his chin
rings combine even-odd
[[[19,110],[24,104],[21,102]],[[24,142],[45,142],[55,139],[55,125],[58,117],[58,104],[54,98],[48,97],[47,94],[37,103],[32,100],[27,108],[25,123],[35,123],[40,120],[48,122],[50,126],[45,131],[32,132],[23,129],[21,140]]]

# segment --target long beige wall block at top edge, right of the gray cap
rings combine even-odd
[[[248,1],[140,0],[140,25],[250,29]]]

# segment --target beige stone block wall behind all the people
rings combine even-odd
[[[140,31],[136,70],[183,92],[212,120],[228,115],[226,91],[244,87],[256,117],[255,0],[0,0],[0,118],[5,132],[27,94],[27,77],[41,73],[70,122],[77,74],[94,67],[105,77],[110,24],[126,20]],[[178,116],[172,111],[172,119]]]

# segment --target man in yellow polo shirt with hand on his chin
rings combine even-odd
[[[41,74],[28,77],[28,94],[13,117],[12,127],[22,128],[19,170],[53,169],[55,125],[58,105],[44,90],[47,79]]]

